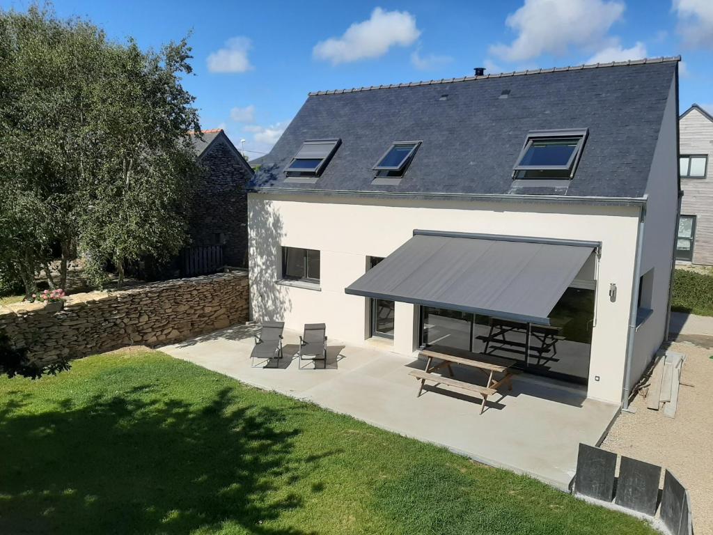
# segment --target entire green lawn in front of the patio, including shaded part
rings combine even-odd
[[[0,533],[655,533],[160,352],[0,379],[0,444]]]

